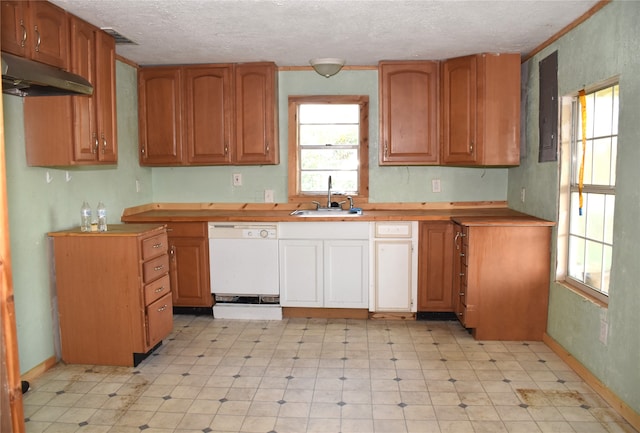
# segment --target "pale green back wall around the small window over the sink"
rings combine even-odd
[[[313,71],[285,71],[278,76],[280,164],[245,167],[171,167],[153,169],[157,202],[262,202],[273,189],[276,202],[287,201],[287,109],[289,95],[369,96],[369,201],[450,202],[506,200],[503,168],[380,167],[378,165],[378,72],[344,70],[324,78]],[[243,185],[234,187],[233,173]],[[431,192],[431,179],[442,192]],[[185,185],[189,185],[185,189]],[[357,204],[357,201],[356,201]]]

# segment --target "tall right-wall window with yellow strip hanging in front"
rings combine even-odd
[[[619,86],[615,84],[584,95],[584,128],[581,98],[572,98],[571,155],[562,160],[563,167],[571,167],[565,194],[568,203],[564,205],[567,215],[564,279],[605,303],[613,252],[618,93]]]

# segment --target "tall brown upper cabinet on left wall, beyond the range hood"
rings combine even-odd
[[[92,96],[24,99],[25,143],[30,166],[115,164],[115,41],[91,24],[69,15],[69,70],[93,85]]]

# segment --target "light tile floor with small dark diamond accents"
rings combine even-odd
[[[137,367],[58,365],[26,431],[635,432],[540,342],[457,322],[175,316]]]

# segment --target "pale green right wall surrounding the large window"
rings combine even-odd
[[[509,170],[511,207],[542,218],[558,219],[558,163],[538,163],[538,62],[558,51],[558,90],[575,94],[619,76],[620,114],[614,222],[614,255],[608,308],[554,282],[548,334],[640,413],[640,3],[614,1],[588,21],[529,60],[527,105],[528,157]],[[526,188],[525,203],[520,189]],[[557,234],[552,264],[556,263]],[[600,323],[608,323],[607,343],[600,341]]]

